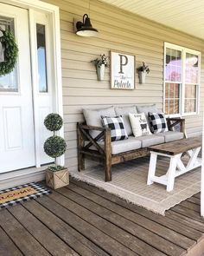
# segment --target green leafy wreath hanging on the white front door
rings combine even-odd
[[[0,62],[0,75],[9,74],[15,67],[18,56],[18,47],[14,35],[10,30],[2,30],[0,42],[4,46],[4,62]]]

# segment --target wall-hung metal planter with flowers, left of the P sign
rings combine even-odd
[[[103,54],[91,62],[95,64],[98,80],[104,80],[105,68],[109,67],[109,57]]]

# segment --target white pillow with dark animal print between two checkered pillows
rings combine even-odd
[[[131,121],[132,133],[135,137],[151,135],[150,128],[144,113],[129,113],[129,118]]]

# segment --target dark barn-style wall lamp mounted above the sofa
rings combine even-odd
[[[77,22],[76,23],[76,34],[78,36],[97,36],[98,30],[92,28],[92,23],[87,14],[83,16],[83,23]]]

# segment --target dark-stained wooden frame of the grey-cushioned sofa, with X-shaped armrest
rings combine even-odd
[[[180,124],[180,131],[185,133],[185,119],[167,118],[169,130],[172,131],[175,125]],[[92,138],[89,131],[99,131],[96,138]],[[85,158],[90,158],[94,161],[99,161],[105,166],[105,181],[112,181],[112,165],[124,161],[133,160],[139,157],[150,154],[148,148],[139,148],[120,154],[112,154],[111,129],[103,127],[87,126],[86,123],[77,123],[78,137],[78,170],[85,169]],[[104,148],[99,146],[98,141],[104,140]],[[94,146],[95,149],[92,149]]]

